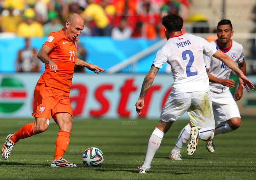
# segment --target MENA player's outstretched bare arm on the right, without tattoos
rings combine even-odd
[[[222,61],[226,66],[232,69],[236,75],[238,76],[239,83],[243,87],[249,91],[248,87],[254,90],[254,84],[244,75],[244,73],[236,66],[236,63],[225,53],[222,53],[219,49],[213,54],[213,57]]]

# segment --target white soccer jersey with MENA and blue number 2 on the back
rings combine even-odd
[[[164,62],[171,65],[174,83],[172,92],[210,92],[203,53],[212,56],[217,47],[204,38],[181,34],[171,37],[156,53],[153,65],[162,68]]]

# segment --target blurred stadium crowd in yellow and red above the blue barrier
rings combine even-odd
[[[161,18],[178,14],[186,21],[189,4],[190,0],[0,0],[0,32],[47,36],[76,12],[85,21],[81,36],[164,38]]]

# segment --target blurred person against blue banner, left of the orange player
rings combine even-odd
[[[25,39],[25,47],[18,51],[15,62],[17,72],[38,72],[41,61],[37,58],[37,50],[30,46],[30,39]]]

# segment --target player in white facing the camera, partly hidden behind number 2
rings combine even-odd
[[[227,54],[238,63],[238,67],[245,74],[246,63],[244,61],[244,48],[241,44],[231,40],[233,28],[230,20],[223,19],[217,25],[217,40],[211,42],[212,45],[220,47],[220,51]],[[229,91],[229,88],[235,87],[235,82],[229,79],[231,69],[223,62],[214,57],[205,57],[206,71],[210,81],[210,90],[212,96],[212,108],[215,118],[215,135],[234,131],[240,126],[241,117],[235,100],[243,96],[243,88],[239,85],[235,93],[235,99]],[[172,149],[170,159],[181,160],[180,151],[182,146],[190,138],[190,124],[185,126]],[[206,141],[206,148],[214,153],[213,140]]]

